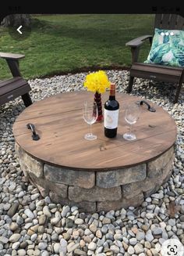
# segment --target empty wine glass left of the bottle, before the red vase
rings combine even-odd
[[[83,119],[87,124],[90,124],[90,132],[84,135],[84,139],[94,140],[97,139],[97,135],[91,132],[91,124],[94,124],[97,120],[97,103],[90,103],[85,101],[83,104]]]

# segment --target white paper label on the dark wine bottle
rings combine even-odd
[[[114,129],[118,127],[119,110],[105,110],[104,109],[104,127]]]

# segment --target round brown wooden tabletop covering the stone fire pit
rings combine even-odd
[[[149,162],[165,153],[175,142],[177,128],[175,121],[161,106],[150,103],[156,112],[141,106],[140,119],[133,124],[136,141],[122,138],[128,131],[125,121],[125,107],[128,103],[141,100],[135,96],[116,92],[119,101],[119,127],[115,139],[104,136],[104,122],[92,124],[94,141],[83,136],[89,132],[89,124],[83,120],[83,102],[91,99],[92,92],[67,92],[37,101],[27,107],[13,125],[16,142],[32,157],[62,168],[83,171],[107,171],[131,167]],[[108,92],[102,95],[102,105],[108,99]],[[41,139],[32,139],[27,124],[34,124]]]

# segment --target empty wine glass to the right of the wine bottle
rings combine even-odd
[[[136,135],[132,132],[132,126],[133,124],[136,124],[136,121],[140,117],[140,106],[136,103],[130,104],[126,106],[126,115],[125,120],[129,124],[129,132],[126,132],[123,134],[123,138],[127,140],[135,140]]]

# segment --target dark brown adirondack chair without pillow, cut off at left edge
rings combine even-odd
[[[25,106],[30,106],[32,100],[30,99],[30,85],[27,80],[23,79],[19,72],[19,59],[24,57],[23,54],[0,52],[0,57],[5,59],[11,70],[12,77],[5,81],[0,81],[0,106],[22,96]]]

